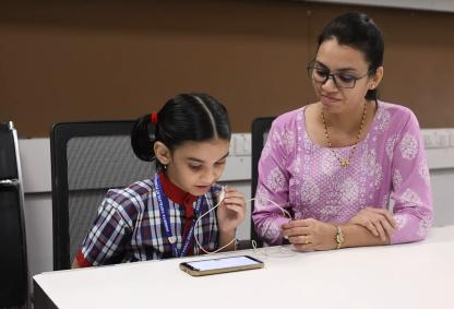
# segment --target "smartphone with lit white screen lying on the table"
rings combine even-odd
[[[180,263],[180,270],[193,276],[263,269],[264,263],[250,255],[210,259]]]

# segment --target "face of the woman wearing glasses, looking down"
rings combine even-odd
[[[312,80],[323,108],[333,114],[362,109],[367,92],[378,86],[381,79],[377,78],[383,70],[381,67],[380,72],[369,76],[369,63],[365,55],[353,47],[339,45],[335,38],[320,45],[313,67],[313,74],[319,74],[319,76],[323,78],[327,73],[335,74],[337,85],[333,76],[324,83]],[[353,82],[353,80],[356,81]],[[351,83],[355,86],[348,87]],[[347,87],[342,87],[342,85]]]

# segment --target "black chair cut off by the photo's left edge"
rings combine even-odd
[[[0,308],[28,304],[24,192],[17,133],[0,123]]]

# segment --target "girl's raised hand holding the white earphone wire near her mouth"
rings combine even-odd
[[[232,231],[246,216],[244,194],[228,187],[225,187],[224,191],[224,200],[217,207],[217,221],[220,231]]]

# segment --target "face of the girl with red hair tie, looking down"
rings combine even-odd
[[[220,139],[190,141],[176,147],[174,153],[168,152],[166,162],[155,153],[167,165],[167,177],[183,191],[199,197],[208,192],[223,175],[229,146],[229,141]]]

